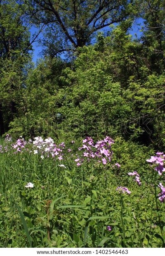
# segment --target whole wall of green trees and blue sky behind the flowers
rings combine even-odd
[[[164,149],[164,5],[1,0],[0,135],[110,135]]]

